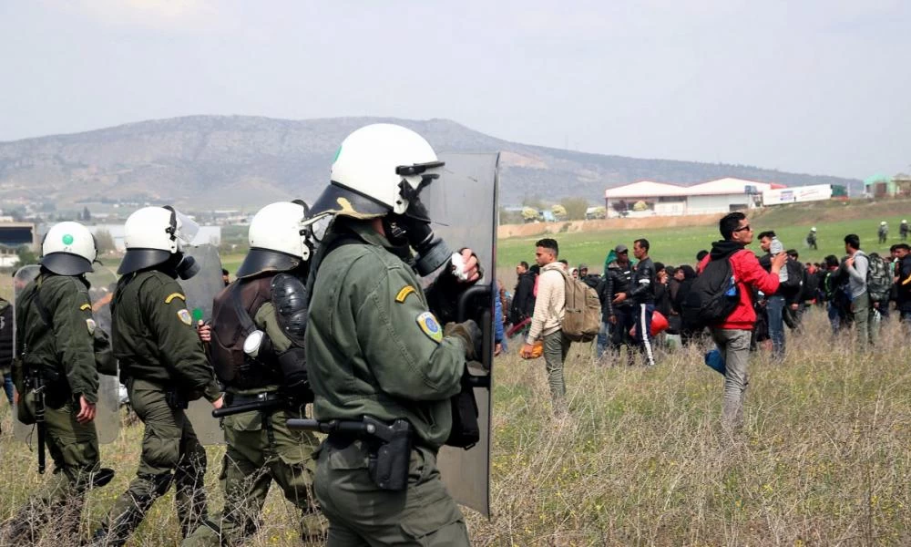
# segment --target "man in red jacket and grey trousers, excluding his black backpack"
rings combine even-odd
[[[722,426],[733,431],[743,423],[743,393],[747,386],[747,360],[750,357],[750,335],[756,324],[756,312],[752,306],[752,291],[757,289],[765,294],[778,290],[778,272],[787,260],[787,254],[779,253],[772,259],[772,271],[766,272],[759,265],[756,255],[746,250],[752,243],[752,228],[742,212],[732,212],[718,222],[722,232],[720,242],[711,244],[711,253],[699,263],[699,272],[713,260],[728,260],[740,304],[721,324],[711,327],[711,337],[718,345],[725,363],[724,406]]]

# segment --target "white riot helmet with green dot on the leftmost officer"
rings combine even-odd
[[[58,275],[81,275],[94,272],[92,263],[98,256],[92,232],[79,222],[58,222],[41,242],[41,265]]]

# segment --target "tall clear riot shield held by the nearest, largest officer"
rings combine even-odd
[[[475,319],[484,332],[482,361],[489,372],[471,367],[476,375],[475,397],[480,440],[471,449],[444,447],[439,468],[455,501],[490,516],[491,402],[493,390],[493,312],[496,294],[496,192],[499,155],[441,154],[444,174],[421,192],[421,201],[434,220],[434,232],[454,251],[470,247],[484,277],[460,303],[460,320]]]

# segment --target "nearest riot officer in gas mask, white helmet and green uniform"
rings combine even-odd
[[[451,433],[450,397],[466,358],[481,351],[477,325],[446,323],[444,304],[456,278],[470,283],[480,272],[470,250],[451,253],[430,229],[419,194],[442,167],[414,131],[367,126],[344,139],[313,205],[314,216],[334,214],[311,273],[304,348],[313,412],[329,428],[350,426],[322,443],[316,466],[332,546],[469,544],[436,455]],[[447,263],[425,294],[415,271]]]

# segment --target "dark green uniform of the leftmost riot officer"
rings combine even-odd
[[[97,403],[97,326],[88,284],[81,278],[43,271],[26,285],[15,305],[19,334],[15,387],[28,394],[28,378],[36,375],[45,383],[46,445],[55,470],[28,508],[17,513],[12,529],[14,534],[25,532],[24,528],[37,533],[53,518],[66,532],[76,533],[85,492],[100,469],[95,423],[76,420],[80,396]],[[34,398],[22,397],[19,405],[22,415],[34,415]]]

